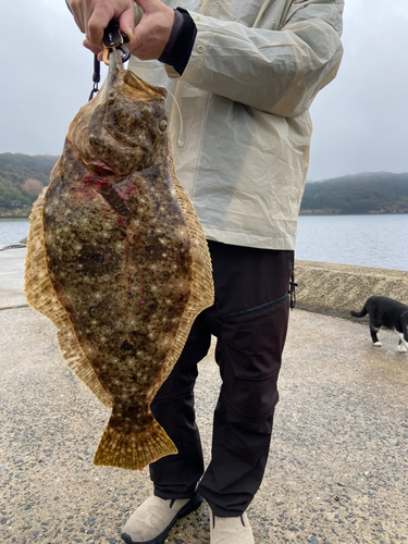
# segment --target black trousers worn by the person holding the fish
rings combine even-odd
[[[150,465],[154,494],[187,498],[198,491],[217,516],[243,514],[267,465],[277,403],[276,381],[288,321],[293,251],[209,242],[215,301],[196,319],[184,350],[151,409],[178,454]],[[205,471],[195,421],[197,364],[217,337],[222,386]],[[202,475],[203,474],[203,475]]]

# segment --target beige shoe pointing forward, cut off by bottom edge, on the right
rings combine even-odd
[[[254,544],[247,515],[219,518],[210,508],[210,544]]]

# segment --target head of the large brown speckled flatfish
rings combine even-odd
[[[112,64],[98,95],[84,107],[86,131],[74,128],[78,141],[72,143],[88,168],[123,176],[168,153],[166,91],[124,70],[122,62]]]

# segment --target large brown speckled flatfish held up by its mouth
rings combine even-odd
[[[125,469],[177,452],[150,404],[213,301],[205,234],[174,173],[165,95],[112,52],[28,235],[27,300],[59,329],[69,366],[112,407],[95,463]]]

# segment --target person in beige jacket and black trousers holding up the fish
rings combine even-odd
[[[268,460],[288,286],[311,137],[309,107],[336,75],[343,0],[66,0],[101,55],[111,18],[128,69],[170,91],[177,178],[205,230],[214,305],[196,319],[151,409],[178,454],[150,465],[153,495],[122,539],[159,544],[205,498],[211,544],[251,544],[245,514]],[[217,338],[222,386],[211,460],[195,420],[198,363]]]

